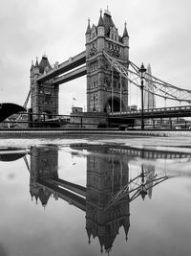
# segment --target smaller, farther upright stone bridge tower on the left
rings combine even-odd
[[[35,65],[31,67],[31,107],[33,113],[46,114],[46,118],[53,118],[58,115],[58,85],[53,85],[52,80],[36,81],[40,75],[46,74],[52,69],[47,56],[43,56],[38,63],[36,59]],[[40,115],[36,115],[35,119],[40,119]]]

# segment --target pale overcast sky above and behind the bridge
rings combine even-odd
[[[0,0],[0,102],[24,104],[32,59],[46,53],[53,64],[84,51],[88,18],[97,25],[107,6],[119,35],[127,22],[131,61],[191,89],[190,0]],[[73,98],[86,105],[85,77],[60,85],[60,114],[69,113]]]

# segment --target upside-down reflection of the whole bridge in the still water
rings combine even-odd
[[[155,165],[145,164],[141,159],[154,159],[154,155],[165,161],[178,156],[187,160],[191,157],[191,153],[154,151],[155,154],[151,154],[148,150],[125,146],[76,144],[70,148],[73,155],[86,157],[86,187],[59,178],[56,146],[32,147],[30,193],[43,206],[53,196],[84,211],[89,243],[92,237],[97,237],[101,251],[105,249],[106,252],[111,250],[121,227],[127,240],[130,202],[138,197],[152,198],[153,188],[172,176],[159,173]],[[137,170],[132,169],[132,159],[136,160]]]

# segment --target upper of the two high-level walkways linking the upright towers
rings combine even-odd
[[[63,73],[69,72],[70,70],[86,63],[86,51],[69,58],[68,60],[62,62],[57,68],[51,69],[48,73],[39,76],[36,81],[43,82],[54,79]],[[85,74],[84,74],[85,75]]]

